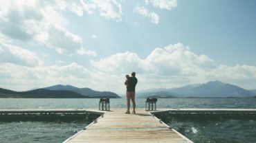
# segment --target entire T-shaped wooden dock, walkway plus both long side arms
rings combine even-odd
[[[125,109],[111,109],[111,111],[99,111],[98,109],[0,109],[0,118],[100,116],[84,130],[69,137],[64,143],[192,143],[187,137],[171,129],[154,115],[188,115],[188,118],[192,115],[235,115],[235,117],[240,115],[242,118],[256,115],[256,109],[158,109],[150,112],[145,109],[137,109],[136,112],[136,114],[125,114]]]

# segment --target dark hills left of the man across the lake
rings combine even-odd
[[[120,98],[110,91],[95,91],[71,85],[54,85],[30,91],[12,91],[0,88],[0,98]]]

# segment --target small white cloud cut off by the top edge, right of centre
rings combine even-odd
[[[176,8],[177,6],[176,0],[146,0],[145,3],[151,3],[155,8],[165,10],[172,10],[172,8]]]

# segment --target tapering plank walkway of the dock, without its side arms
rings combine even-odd
[[[107,111],[64,143],[192,142],[144,109],[137,109],[136,112],[125,114],[125,109]]]

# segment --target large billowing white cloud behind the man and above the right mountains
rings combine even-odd
[[[130,72],[137,72],[139,78],[138,89],[170,88],[193,83],[205,83],[209,80],[222,80],[235,83],[234,79],[245,84],[246,87],[256,86],[256,67],[237,65],[228,67],[217,65],[214,60],[203,54],[197,55],[181,43],[156,48],[146,58],[140,58],[131,52],[118,53],[100,61],[91,61],[91,65],[107,75],[124,76]],[[119,86],[119,85],[117,85]],[[241,87],[244,87],[241,85]],[[121,88],[121,87],[120,87]]]

